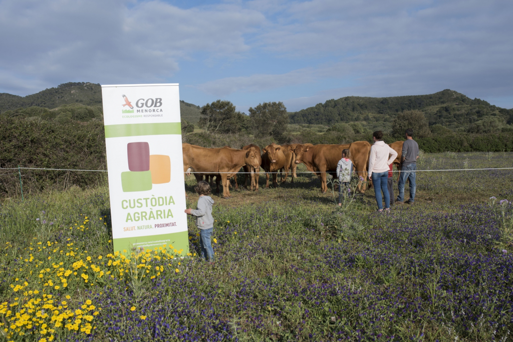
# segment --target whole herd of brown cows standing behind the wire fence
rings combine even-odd
[[[219,192],[219,184],[223,185],[223,196],[230,197],[230,179],[235,176],[241,168],[244,168],[244,184],[250,180],[250,189],[258,190],[258,179],[260,169],[266,173],[266,188],[269,187],[269,175],[272,175],[272,184],[278,186],[278,173],[281,174],[281,182],[287,180],[289,170],[291,171],[291,182],[294,182],[296,168],[299,164],[306,165],[308,171],[315,173],[321,178],[321,190],[328,190],[326,174],[336,177],[337,163],[342,156],[342,150],[349,149],[350,158],[354,169],[359,175],[357,189],[365,191],[367,178],[367,167],[369,162],[370,144],[368,142],[354,142],[342,145],[312,145],[312,144],[270,144],[264,149],[257,145],[247,145],[242,149],[232,149],[229,146],[223,148],[205,148],[196,145],[182,144],[184,157],[184,172],[193,172],[196,180],[200,181],[206,177],[212,182],[215,176],[215,183]],[[401,152],[403,142],[398,141],[389,146],[397,151],[398,156],[394,164],[400,169]],[[238,188],[237,178],[235,186]]]

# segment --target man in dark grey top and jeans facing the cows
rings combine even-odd
[[[410,182],[410,198],[409,204],[413,204],[415,200],[415,171],[417,170],[417,158],[419,157],[419,145],[413,140],[413,130],[408,128],[406,130],[406,140],[403,144],[403,153],[401,155],[401,174],[399,176],[399,196],[397,196],[396,203],[404,204],[404,185],[406,178]]]

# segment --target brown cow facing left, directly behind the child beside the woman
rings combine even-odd
[[[328,185],[326,183],[326,173],[336,177],[337,164],[342,157],[342,150],[349,149],[351,161],[354,169],[360,177],[357,189],[365,192],[365,183],[362,181],[367,178],[367,163],[369,160],[370,144],[368,142],[354,142],[344,145],[298,145],[294,153],[295,164],[304,163],[308,171],[321,176],[321,190],[326,192]]]

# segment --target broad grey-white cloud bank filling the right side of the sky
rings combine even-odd
[[[292,2],[257,40],[283,59],[313,61],[310,68],[222,78],[198,88],[224,96],[351,78],[360,86],[347,95],[422,94],[446,88],[469,96],[509,95],[512,12],[513,3],[505,0]],[[329,62],[318,62],[323,59]]]

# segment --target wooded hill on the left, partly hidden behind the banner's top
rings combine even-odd
[[[63,112],[69,113],[65,117],[79,121],[102,119],[102,87],[89,82],[69,82],[24,97],[0,93],[0,113],[9,110],[12,114],[45,120],[58,118]],[[199,106],[180,101],[180,112],[188,122],[195,124],[200,120]]]

